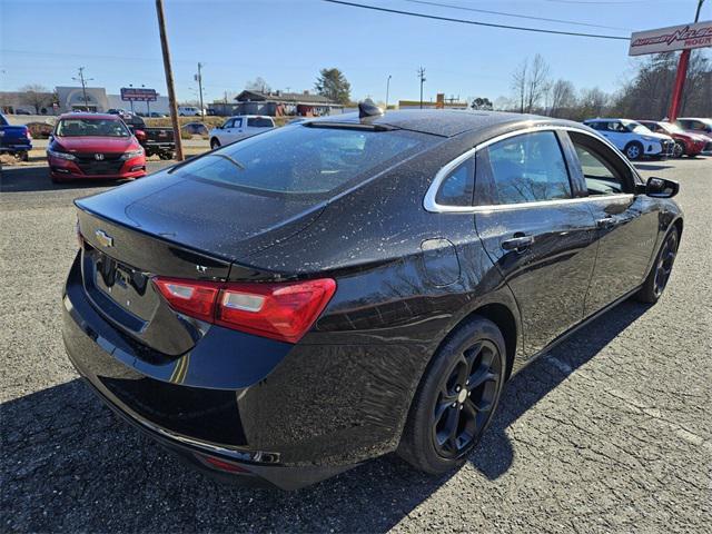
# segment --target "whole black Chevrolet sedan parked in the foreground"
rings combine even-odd
[[[397,451],[461,466],[513,373],[661,296],[683,221],[562,120],[365,111],[77,201],[69,357],[196,466],[297,488]]]

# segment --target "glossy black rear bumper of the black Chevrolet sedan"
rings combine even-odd
[[[387,354],[295,346],[219,326],[189,353],[166,357],[95,309],[79,257],[62,303],[69,358],[103,402],[191,464],[237,483],[259,477],[295,490],[394,451],[422,370],[405,365],[414,346]]]

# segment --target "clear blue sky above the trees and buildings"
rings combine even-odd
[[[513,26],[630,37],[631,31],[691,22],[696,0],[352,0]],[[319,69],[336,67],[352,98],[417,99],[425,68],[425,99],[511,93],[512,72],[541,53],[553,78],[576,88],[614,91],[641,59],[627,41],[532,33],[376,12],[323,0],[165,0],[176,92],[197,98],[194,75],[204,63],[206,101],[234,95],[257,77],[273,89],[313,90]],[[562,19],[606,28],[528,20],[458,8]],[[712,19],[712,0],[700,20]],[[0,0],[0,90],[28,83],[89,86],[118,93],[141,85],[166,95],[154,0]]]

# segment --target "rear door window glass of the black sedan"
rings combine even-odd
[[[522,204],[571,198],[566,162],[553,131],[504,139],[487,148],[492,200]]]

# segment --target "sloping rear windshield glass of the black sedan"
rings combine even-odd
[[[436,139],[403,130],[294,125],[208,152],[172,172],[266,194],[323,196],[368,179]]]

